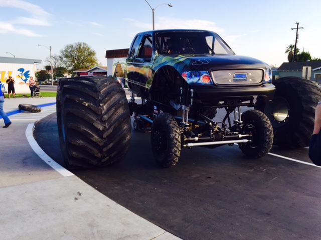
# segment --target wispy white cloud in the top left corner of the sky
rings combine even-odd
[[[49,26],[49,18],[51,14],[46,12],[42,7],[32,4],[24,0],[1,0],[0,7],[19,8],[25,11],[24,16],[17,16],[12,11],[11,17],[6,22],[2,22],[0,26],[1,33],[16,33],[27,36],[42,36],[41,34],[34,33],[33,31],[19,27],[17,25],[37,25]]]

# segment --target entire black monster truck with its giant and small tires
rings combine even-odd
[[[164,167],[175,165],[181,150],[193,146],[237,143],[254,158],[269,152],[273,136],[282,147],[306,146],[321,96],[305,79],[272,84],[268,64],[236,55],[218,34],[206,30],[138,33],[127,58],[115,59],[113,72],[125,77],[129,102],[113,77],[59,82],[58,132],[70,168],[123,158],[131,138],[130,115],[134,130],[150,131],[153,156]],[[241,114],[242,106],[255,109]],[[220,108],[226,113],[216,120]]]

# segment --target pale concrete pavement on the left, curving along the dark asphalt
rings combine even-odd
[[[66,169],[57,171],[33,137],[56,98],[6,98],[0,119],[1,239],[180,239],[120,206]],[[41,112],[19,112],[21,103]],[[37,153],[36,153],[37,152]],[[46,163],[48,162],[48,164]],[[58,167],[58,168],[59,168]]]

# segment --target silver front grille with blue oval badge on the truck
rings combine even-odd
[[[259,69],[212,71],[214,82],[218,85],[255,85],[263,80]]]

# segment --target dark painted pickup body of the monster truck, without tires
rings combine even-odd
[[[154,30],[134,37],[126,59],[132,92],[147,100],[177,101],[188,84],[204,105],[226,98],[261,95],[273,98],[272,71],[255,58],[238,56],[215,32]]]

